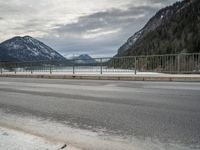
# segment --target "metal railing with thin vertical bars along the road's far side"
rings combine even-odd
[[[104,74],[158,72],[200,73],[200,53],[128,56],[67,61],[0,62],[1,73]]]

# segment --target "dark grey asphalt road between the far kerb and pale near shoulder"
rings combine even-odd
[[[0,78],[0,110],[200,145],[200,83]]]

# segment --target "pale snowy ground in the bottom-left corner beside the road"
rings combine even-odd
[[[63,148],[62,148],[63,147]],[[0,126],[0,150],[76,150],[63,143]]]

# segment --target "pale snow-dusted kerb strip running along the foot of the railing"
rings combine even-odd
[[[200,82],[200,76],[160,75],[160,76],[112,76],[112,75],[22,75],[1,74],[8,78],[42,78],[42,79],[78,79],[78,80],[118,80],[118,81],[165,81],[165,82]]]

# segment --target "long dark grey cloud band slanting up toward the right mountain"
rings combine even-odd
[[[146,6],[131,7],[127,10],[112,9],[80,17],[77,23],[60,26],[56,32],[60,34],[80,34],[98,28],[113,29],[114,27],[124,27],[144,18],[148,18],[149,14],[152,14],[152,12],[155,12],[155,8]]]

